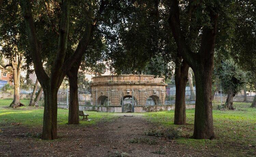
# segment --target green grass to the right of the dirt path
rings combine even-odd
[[[251,103],[234,102],[236,110],[216,110],[220,102],[213,103],[214,140],[192,139],[195,109],[186,110],[187,125],[174,125],[174,111],[145,113],[151,122],[180,130],[181,137],[175,141],[183,146],[220,153],[225,156],[256,155],[256,109]],[[216,108],[215,108],[216,107]],[[225,151],[223,151],[225,150]],[[223,153],[223,154],[222,154]]]

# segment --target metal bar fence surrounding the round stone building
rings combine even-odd
[[[166,88],[166,90],[155,89],[97,89],[97,90],[79,90],[78,100],[80,105],[173,105],[175,104],[175,87]],[[186,87],[186,104],[194,104],[196,100],[196,91]],[[69,105],[69,89],[60,89],[58,91],[58,104]]]

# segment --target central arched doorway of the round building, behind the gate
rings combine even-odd
[[[122,112],[134,112],[134,105],[137,104],[136,99],[131,95],[126,95],[121,100]]]

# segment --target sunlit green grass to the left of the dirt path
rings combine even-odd
[[[21,123],[21,125],[27,127],[42,126],[44,108],[30,106],[23,106],[16,109],[5,108],[6,104],[8,106],[11,102],[12,99],[0,99],[0,126],[8,127],[11,123]],[[28,105],[29,100],[21,100],[21,102]],[[91,120],[80,120],[81,125],[94,125],[100,120],[109,121],[113,118],[113,113],[100,113],[93,111],[86,111],[86,113],[89,114],[88,119]],[[58,109],[57,114],[57,124],[66,125],[68,123],[68,110]]]

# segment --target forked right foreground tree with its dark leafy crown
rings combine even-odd
[[[169,5],[169,25],[178,52],[195,74],[196,109],[193,137],[212,139],[214,138],[212,117],[214,52],[215,49],[227,44],[221,40],[225,41],[226,36],[230,36],[235,17],[234,6],[230,1],[208,0],[170,0],[167,6]],[[223,44],[214,47],[215,43]]]

